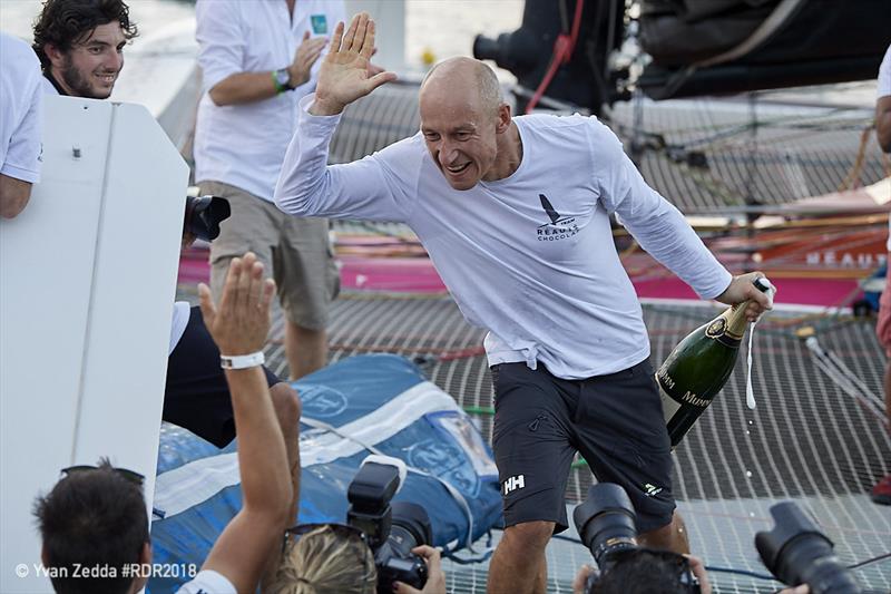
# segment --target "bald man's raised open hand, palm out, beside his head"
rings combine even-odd
[[[381,85],[395,80],[393,72],[369,76],[369,61],[374,52],[374,21],[368,12],[353,17],[346,33],[339,22],[331,38],[331,47],[315,86],[315,101],[310,107],[314,116],[333,116],[360,97]]]

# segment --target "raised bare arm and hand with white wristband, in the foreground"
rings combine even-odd
[[[200,284],[198,291],[205,324],[222,354],[243,356],[263,349],[275,283],[263,279],[263,264],[254,254],[232,261],[217,306],[206,285]],[[237,592],[253,592],[266,559],[281,545],[291,477],[263,368],[227,369],[225,373],[238,427],[243,505],[214,543],[202,569],[223,574]]]

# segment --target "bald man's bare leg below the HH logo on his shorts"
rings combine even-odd
[[[545,547],[552,534],[552,522],[526,522],[505,528],[489,564],[488,594],[545,594]]]

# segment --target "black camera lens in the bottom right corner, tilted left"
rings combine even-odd
[[[832,552],[832,541],[792,502],[771,507],[774,528],[755,535],[764,566],[790,586],[807,584],[812,594],[861,592]]]

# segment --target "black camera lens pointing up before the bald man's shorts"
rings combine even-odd
[[[588,489],[588,498],[572,512],[572,520],[601,572],[621,551],[637,548],[635,513],[625,489],[600,483]]]

